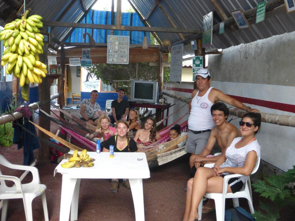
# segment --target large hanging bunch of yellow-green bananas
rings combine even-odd
[[[15,19],[4,26],[0,32],[0,40],[6,49],[1,57],[1,65],[6,67],[6,74],[13,74],[19,78],[23,87],[22,98],[28,100],[29,82],[42,83],[46,77],[47,67],[40,62],[39,55],[43,54],[43,38],[39,28],[43,27],[40,15],[31,15],[27,18],[29,10],[22,15],[22,19]]]

